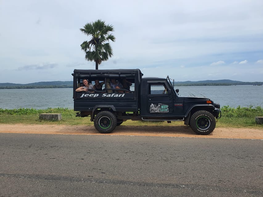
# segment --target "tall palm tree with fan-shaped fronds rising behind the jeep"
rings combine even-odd
[[[87,23],[80,31],[87,36],[91,36],[90,41],[84,41],[80,46],[85,52],[87,61],[96,62],[96,70],[102,61],[107,61],[113,55],[109,40],[115,42],[115,36],[109,32],[114,31],[112,25],[105,25],[100,19]]]

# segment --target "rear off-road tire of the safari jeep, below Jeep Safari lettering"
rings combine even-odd
[[[117,118],[110,111],[101,111],[94,118],[94,126],[100,133],[110,133],[116,125]]]

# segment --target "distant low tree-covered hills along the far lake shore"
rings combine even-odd
[[[173,81],[171,81],[173,83]],[[175,86],[232,86],[232,85],[263,85],[263,82],[242,82],[229,79],[205,81],[179,81]],[[0,89],[32,89],[32,88],[72,88],[73,81],[50,81],[27,84],[0,83]]]

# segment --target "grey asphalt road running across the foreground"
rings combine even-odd
[[[263,196],[262,140],[0,134],[0,196]]]

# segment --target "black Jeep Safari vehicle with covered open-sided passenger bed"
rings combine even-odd
[[[167,78],[145,77],[139,69],[74,70],[73,99],[76,116],[94,121],[100,133],[110,133],[126,120],[184,121],[201,135],[211,133],[216,119],[221,118],[220,105],[209,98],[181,97]],[[133,85],[131,90],[113,89],[111,79],[122,82],[126,79]],[[76,91],[83,79],[95,84],[99,80],[102,90]]]

